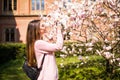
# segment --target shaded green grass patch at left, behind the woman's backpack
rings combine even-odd
[[[22,71],[23,60],[11,60],[0,65],[0,80],[29,80]]]

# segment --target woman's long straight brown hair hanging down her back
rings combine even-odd
[[[28,24],[26,35],[26,52],[29,66],[36,66],[34,43],[40,39],[40,20],[33,20]]]

